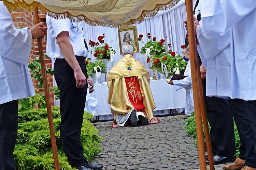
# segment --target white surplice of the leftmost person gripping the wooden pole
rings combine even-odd
[[[28,69],[30,30],[18,30],[0,2],[0,104],[35,95]]]

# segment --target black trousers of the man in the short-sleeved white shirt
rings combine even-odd
[[[87,78],[84,61],[77,61]],[[84,88],[76,87],[74,71],[65,59],[56,59],[54,76],[60,90],[60,137],[64,152],[72,167],[84,166],[87,160],[83,156],[80,135],[88,84],[86,81]]]

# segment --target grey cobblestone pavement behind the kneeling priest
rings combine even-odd
[[[102,152],[93,161],[103,170],[199,170],[195,139],[185,133],[187,115],[159,117],[160,123],[112,128],[112,121],[96,122]],[[223,170],[224,164],[215,165]],[[209,166],[208,166],[209,169]]]

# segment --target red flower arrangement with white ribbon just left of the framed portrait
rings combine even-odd
[[[101,60],[101,59],[110,60],[111,59],[111,61],[112,61],[116,51],[114,50],[114,48],[112,48],[105,42],[104,37],[105,37],[105,34],[98,36],[99,42],[97,42],[97,43],[95,43],[92,40],[89,40],[88,44],[91,47],[93,47],[93,49],[94,49],[94,52],[91,51],[91,54],[93,54],[97,60]]]

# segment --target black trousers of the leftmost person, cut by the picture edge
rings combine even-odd
[[[18,100],[0,104],[0,169],[15,170],[13,151],[18,133]]]

